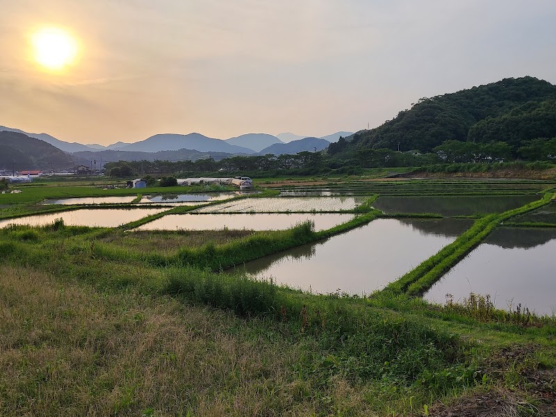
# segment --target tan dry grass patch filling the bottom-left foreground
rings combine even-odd
[[[316,395],[293,371],[304,346],[268,322],[165,297],[0,266],[0,324],[2,416],[369,413],[342,379]]]

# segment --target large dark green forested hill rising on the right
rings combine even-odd
[[[530,76],[503,79],[436,97],[376,129],[359,131],[351,142],[329,147],[331,154],[357,149],[418,149],[430,152],[445,140],[507,141],[556,136],[556,85]],[[518,126],[518,129],[516,129]]]

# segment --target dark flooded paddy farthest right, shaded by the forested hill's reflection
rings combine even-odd
[[[379,197],[373,207],[391,213],[439,213],[445,216],[502,213],[538,200],[539,195],[454,197]]]

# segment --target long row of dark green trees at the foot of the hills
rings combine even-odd
[[[183,177],[208,175],[211,177],[279,177],[283,175],[359,174],[363,169],[375,167],[419,167],[441,163],[494,163],[500,161],[556,162],[556,138],[537,138],[523,141],[514,149],[502,141],[464,142],[445,140],[432,152],[398,152],[392,149],[349,149],[341,147],[345,139],[331,144],[329,152],[300,152],[295,155],[232,156],[215,161],[213,158],[197,161],[119,161],[106,163],[111,177],[127,178],[137,175]],[[334,146],[333,146],[334,145]],[[515,151],[515,152],[514,152]]]

